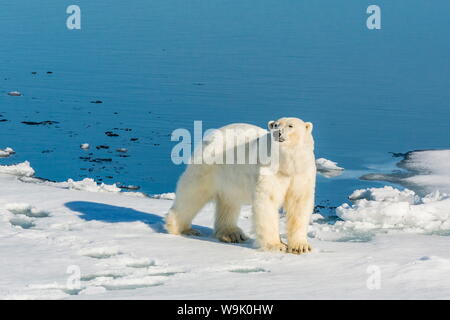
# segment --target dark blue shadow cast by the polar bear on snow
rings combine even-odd
[[[154,232],[167,233],[164,228],[163,217],[157,214],[137,211],[132,208],[118,207],[105,203],[89,201],[71,201],[66,202],[64,205],[71,211],[80,213],[80,218],[86,221],[96,220],[108,223],[139,221],[147,224]],[[199,225],[192,225],[192,227],[202,233],[202,236],[199,237],[189,236],[189,238],[192,239],[216,242],[220,244],[229,244],[240,247],[253,246],[252,240],[248,240],[245,243],[220,242],[214,237],[214,232],[211,228]]]

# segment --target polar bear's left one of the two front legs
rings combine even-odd
[[[279,233],[279,204],[272,194],[259,193],[253,201],[253,219],[258,244],[263,250],[286,252]]]

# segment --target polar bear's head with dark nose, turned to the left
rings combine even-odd
[[[273,139],[279,142],[281,147],[311,146],[314,148],[311,122],[304,122],[298,118],[281,118],[269,121],[268,127]]]

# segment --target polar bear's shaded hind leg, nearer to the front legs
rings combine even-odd
[[[216,199],[216,218],[214,222],[214,233],[220,241],[239,243],[248,237],[237,226],[237,220],[241,210],[240,205],[218,196]]]

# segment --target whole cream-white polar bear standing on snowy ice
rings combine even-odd
[[[175,201],[166,215],[169,233],[200,235],[192,229],[192,220],[207,202],[214,201],[215,236],[224,242],[246,241],[247,236],[237,226],[237,220],[241,206],[250,204],[254,231],[262,249],[297,254],[312,250],[307,241],[307,231],[314,209],[316,183],[313,124],[298,118],[281,118],[270,121],[268,128],[269,131],[250,124],[232,124],[218,129],[209,139],[205,138],[197,157],[211,156],[212,150],[217,156],[219,150],[224,153],[223,160],[227,151],[237,150],[239,143],[235,143],[235,138],[242,132],[252,132],[240,144],[246,151],[262,138],[269,137],[266,140],[270,150],[277,147],[277,166],[273,166],[273,151],[269,153],[271,170],[259,156],[256,163],[250,162],[248,154],[244,162],[205,163],[196,161],[194,153],[193,160],[178,181]],[[226,134],[230,131],[234,135]],[[236,160],[235,153],[231,159]],[[287,245],[279,234],[281,207],[287,213]]]

